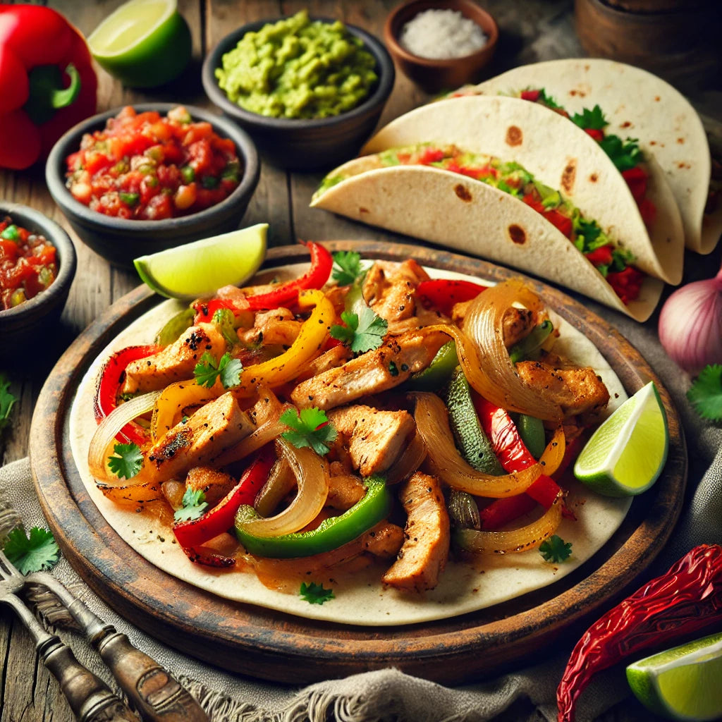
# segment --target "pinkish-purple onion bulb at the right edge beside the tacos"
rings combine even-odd
[[[714,278],[682,286],[665,301],[659,340],[669,357],[691,374],[722,363],[722,269]]]

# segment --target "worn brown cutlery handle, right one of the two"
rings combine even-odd
[[[201,705],[153,658],[113,627],[95,640],[98,653],[144,720],[209,722]]]

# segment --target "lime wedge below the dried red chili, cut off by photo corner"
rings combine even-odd
[[[640,702],[674,720],[722,718],[722,633],[679,645],[627,667]]]

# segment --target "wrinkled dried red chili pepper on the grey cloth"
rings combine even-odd
[[[722,547],[700,544],[584,632],[557,687],[558,721],[573,722],[576,700],[596,672],[720,622]]]

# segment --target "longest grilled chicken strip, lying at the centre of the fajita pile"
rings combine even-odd
[[[448,341],[441,331],[406,331],[375,349],[302,381],[291,392],[300,408],[335,409],[362,396],[399,386],[412,373],[425,369]]]

